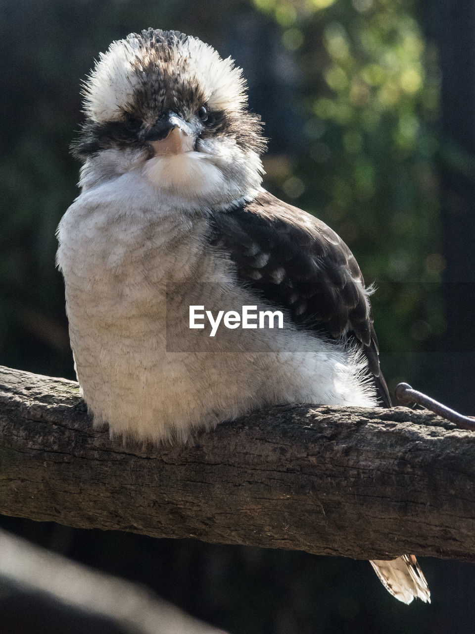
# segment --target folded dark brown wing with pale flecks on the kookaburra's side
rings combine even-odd
[[[300,328],[346,337],[368,360],[379,396],[391,406],[364,279],[345,242],[317,218],[268,192],[211,219],[213,245],[236,265],[239,281]]]

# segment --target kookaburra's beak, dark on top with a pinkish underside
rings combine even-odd
[[[165,112],[145,136],[152,146],[154,156],[191,152],[196,143],[196,134],[190,124],[171,110]]]

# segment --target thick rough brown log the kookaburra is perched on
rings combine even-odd
[[[355,559],[475,561],[475,434],[426,410],[282,406],[194,446],[92,429],[77,383],[0,368],[0,512]]]

